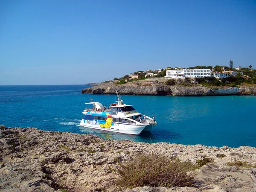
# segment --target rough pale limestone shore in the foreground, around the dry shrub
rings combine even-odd
[[[1,192],[117,191],[109,167],[137,154],[162,154],[197,164],[194,187],[126,189],[125,192],[256,192],[256,148],[104,140],[91,134],[6,128],[0,125]]]

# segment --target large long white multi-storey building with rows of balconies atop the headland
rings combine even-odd
[[[211,69],[182,69],[182,70],[166,70],[166,78],[169,79],[184,79],[185,77],[210,77]]]

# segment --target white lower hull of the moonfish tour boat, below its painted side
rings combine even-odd
[[[98,123],[87,123],[86,120],[82,119],[80,122],[80,126],[86,127],[86,128],[93,128],[98,129],[102,131],[112,131],[116,133],[122,133],[122,134],[132,134],[132,135],[139,135],[141,131],[146,127],[146,125],[131,125],[126,123],[113,123],[109,128],[105,128],[100,126],[102,124]]]

